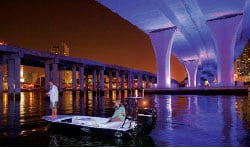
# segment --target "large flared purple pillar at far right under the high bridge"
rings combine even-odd
[[[234,49],[242,15],[207,22],[217,43],[217,78],[220,86],[234,85]],[[226,53],[226,54],[225,54]]]

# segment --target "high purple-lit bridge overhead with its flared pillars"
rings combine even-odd
[[[250,37],[250,0],[98,0],[143,31],[157,60],[157,87],[171,88],[170,55],[188,86],[234,85],[234,61]],[[248,18],[248,19],[247,19]]]

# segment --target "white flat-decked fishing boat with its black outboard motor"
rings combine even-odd
[[[58,115],[56,118],[43,116],[42,119],[50,122],[52,129],[57,131],[67,130],[71,134],[84,133],[131,138],[142,134],[150,134],[155,124],[153,123],[155,122],[154,115],[155,112],[149,112],[149,109],[147,109],[146,114],[140,112],[136,118],[126,117],[124,122],[108,122],[109,118],[80,115]]]

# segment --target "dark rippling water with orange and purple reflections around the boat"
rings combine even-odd
[[[134,94],[113,92],[84,97],[64,92],[59,114],[109,117],[112,102]],[[157,126],[149,136],[131,140],[48,132],[41,119],[51,114],[44,92],[23,92],[21,98],[0,97],[0,146],[250,146],[250,97],[151,95],[145,105],[155,107]]]

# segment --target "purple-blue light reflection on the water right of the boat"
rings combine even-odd
[[[249,121],[238,116],[249,104],[247,97],[156,95],[155,103],[160,118],[151,135],[158,146],[241,146],[249,141],[249,128],[243,126]]]

